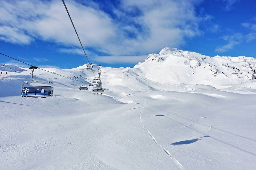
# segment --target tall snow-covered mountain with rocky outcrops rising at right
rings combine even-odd
[[[252,57],[209,57],[166,47],[159,54],[149,54],[144,63],[131,70],[144,72],[146,78],[162,83],[226,88],[256,79],[255,64],[256,58]]]

